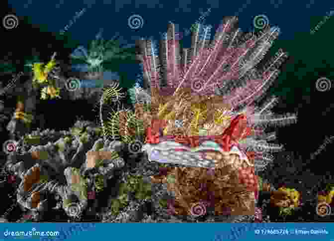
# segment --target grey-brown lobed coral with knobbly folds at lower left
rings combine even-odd
[[[9,156],[5,168],[22,180],[17,202],[23,208],[47,210],[45,197],[51,193],[62,198],[70,217],[79,216],[87,207],[88,184],[98,190],[98,177],[110,179],[114,170],[124,166],[111,143],[100,138],[98,127],[88,125],[78,122],[71,131],[35,131],[18,141],[17,152]]]

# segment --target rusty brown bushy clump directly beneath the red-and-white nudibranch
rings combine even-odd
[[[154,176],[153,182],[167,183],[169,191],[175,193],[173,208],[179,215],[194,215],[194,206],[202,207],[203,212],[214,207],[215,215],[225,214],[226,208],[234,215],[254,213],[254,195],[239,183],[234,168],[217,168],[210,173],[208,168],[172,168],[165,178]]]

